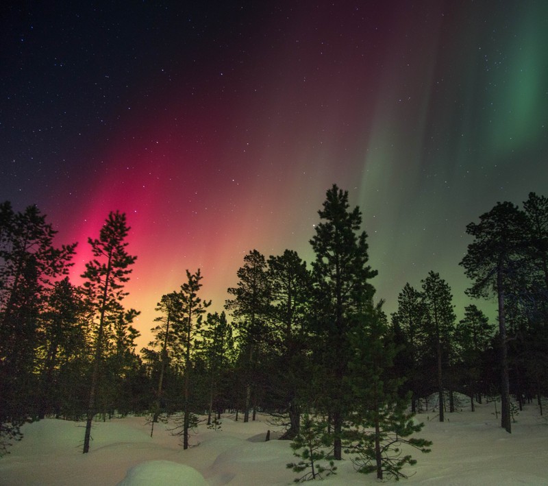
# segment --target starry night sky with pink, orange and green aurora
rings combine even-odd
[[[434,270],[462,316],[466,224],[548,195],[543,0],[8,0],[0,19],[0,199],[79,242],[75,283],[127,214],[139,345],[186,269],[221,311],[249,250],[312,261],[334,183],[387,313]]]

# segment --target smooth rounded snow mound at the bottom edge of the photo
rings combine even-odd
[[[118,486],[208,486],[189,465],[172,461],[147,461],[131,467]]]

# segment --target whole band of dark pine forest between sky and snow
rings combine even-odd
[[[0,205],[0,455],[21,427],[45,417],[92,422],[113,416],[175,418],[184,449],[199,420],[215,427],[268,413],[284,425],[297,457],[288,464],[314,479],[351,459],[358,472],[406,477],[428,452],[413,420],[423,409],[447,420],[462,397],[471,409],[500,402],[500,425],[525,403],[543,415],[548,391],[548,199],[530,193],[522,206],[499,202],[466,227],[460,265],[470,304],[456,318],[451,288],[429,271],[421,288],[406,284],[397,311],[375,299],[360,208],[334,185],[319,210],[310,245],[314,261],[285,250],[245,255],[227,289],[224,311],[208,311],[200,269],[179,289],[158,295],[147,348],[136,349],[138,310],[124,286],[129,253],[125,214],[111,212],[87,244],[82,285],[69,280],[76,243],[54,245],[36,206]],[[497,303],[490,319],[473,304]],[[206,417],[201,419],[200,417]],[[300,459],[300,461],[299,461]]]

